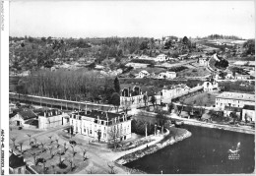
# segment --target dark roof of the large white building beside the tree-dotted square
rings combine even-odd
[[[82,116],[87,116],[95,119],[97,119],[98,117],[100,120],[107,120],[107,119],[111,120],[118,117],[122,117],[124,115],[124,113],[113,113],[113,112],[105,112],[105,111],[99,111],[99,110],[87,111],[87,114],[85,113],[85,111],[76,112],[74,114],[77,114],[77,115],[79,114]]]

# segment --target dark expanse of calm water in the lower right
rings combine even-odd
[[[185,125],[192,136],[146,155],[125,166],[150,174],[252,173],[255,166],[254,135]],[[239,159],[228,150],[240,143]]]

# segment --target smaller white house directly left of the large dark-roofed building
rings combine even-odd
[[[36,109],[34,112],[38,115],[38,128],[48,129],[62,125],[66,125],[69,122],[68,114],[61,112],[58,109]]]

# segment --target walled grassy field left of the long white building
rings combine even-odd
[[[216,96],[218,96],[217,93],[203,92],[201,94],[186,98],[184,103],[189,105],[193,104],[195,106],[212,106],[215,105]]]

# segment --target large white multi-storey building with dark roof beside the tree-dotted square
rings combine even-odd
[[[74,132],[103,142],[131,138],[131,116],[98,110],[74,112],[70,117]]]

